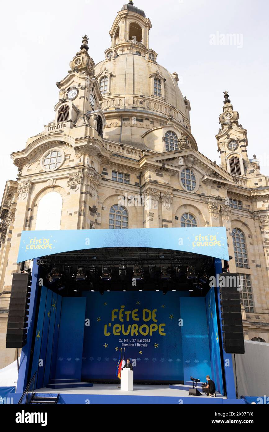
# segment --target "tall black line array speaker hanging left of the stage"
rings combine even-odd
[[[6,329],[6,348],[22,348],[27,340],[31,273],[14,273]]]

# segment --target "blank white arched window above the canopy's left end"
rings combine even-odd
[[[60,229],[63,200],[58,192],[48,192],[38,203],[35,231]]]

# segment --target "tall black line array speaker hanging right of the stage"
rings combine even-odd
[[[244,354],[244,332],[237,273],[219,275],[221,324],[225,353]]]

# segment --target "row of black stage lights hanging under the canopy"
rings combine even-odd
[[[149,279],[147,277],[147,281],[156,283],[156,285],[160,283],[164,294],[168,292],[169,283],[172,281],[174,283],[180,283],[182,280],[188,281],[191,283],[189,288],[190,292],[193,291],[193,288],[202,290],[209,281],[211,264],[204,265],[201,272],[197,272],[196,268],[192,265],[184,267],[182,264],[161,264],[159,268],[156,264],[148,264]],[[126,264],[119,264],[117,276],[113,276],[111,266],[104,263],[102,265],[101,275],[99,276],[98,267],[95,265],[79,265],[76,271],[72,270],[72,266],[64,266],[63,271],[60,271],[60,267],[54,266],[51,267],[51,270],[47,273],[47,281],[51,285],[56,285],[58,291],[65,289],[66,284],[70,282],[78,284],[86,282],[89,283],[89,288],[92,292],[96,290],[95,285],[98,284],[98,291],[103,294],[104,290],[110,291],[109,286],[112,282],[116,282],[116,278],[123,283],[132,282],[132,285],[142,288],[143,283],[146,282],[145,271],[142,264],[133,265],[132,280],[130,279],[130,274],[127,274],[127,269],[128,266]],[[74,292],[77,291],[78,289],[74,288]],[[123,291],[127,290],[123,287]],[[143,290],[139,289],[139,291]],[[158,292],[160,290],[156,289],[155,291]],[[176,289],[172,289],[172,291],[176,291]]]

